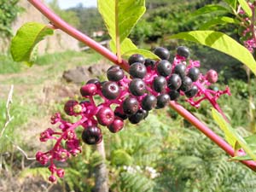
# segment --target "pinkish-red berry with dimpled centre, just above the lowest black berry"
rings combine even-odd
[[[114,119],[114,114],[111,108],[102,107],[97,113],[96,118],[101,125],[108,126],[112,124]]]

